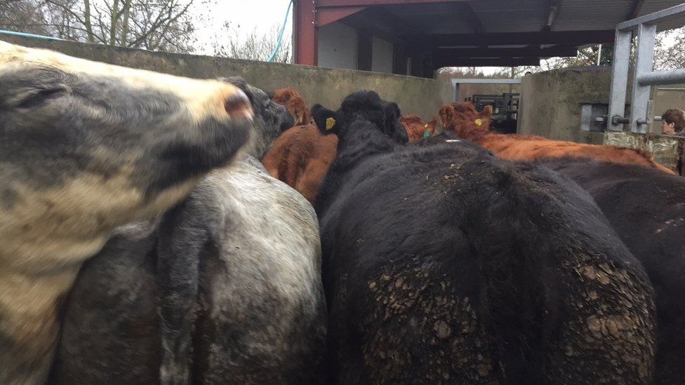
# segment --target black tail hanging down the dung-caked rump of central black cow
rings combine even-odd
[[[484,318],[499,342],[497,354],[505,378],[512,383],[540,383],[536,365],[545,365],[544,358],[529,346],[545,338],[549,332],[545,325],[558,316],[556,306],[547,306],[558,291],[552,288],[557,285],[554,266],[549,266],[554,259],[551,243],[557,240],[552,224],[545,225],[551,219],[544,218],[545,201],[541,198],[531,207],[535,194],[521,189],[526,181],[520,179],[525,177],[508,167],[477,166],[481,175],[473,175],[472,180],[492,184],[459,191],[466,215],[461,230],[478,260],[485,293],[481,301],[487,309]],[[565,236],[572,237],[568,230]]]

